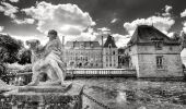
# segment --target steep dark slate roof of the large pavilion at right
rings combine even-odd
[[[152,44],[152,40],[155,39],[162,40],[164,44],[179,45],[178,40],[167,37],[154,26],[149,25],[139,25],[127,45]]]

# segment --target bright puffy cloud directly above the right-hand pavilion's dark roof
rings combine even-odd
[[[150,16],[148,19],[137,19],[131,23],[125,23],[124,27],[128,31],[130,35],[133,34],[138,25],[153,25],[164,34],[167,34],[167,31],[174,25],[175,21],[172,17],[162,17],[162,16]]]

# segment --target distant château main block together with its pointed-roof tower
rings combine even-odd
[[[118,50],[111,35],[104,45],[98,41],[67,41],[63,48],[63,61],[69,69],[118,68]]]

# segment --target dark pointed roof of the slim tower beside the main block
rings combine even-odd
[[[107,37],[107,39],[106,39],[106,41],[105,41],[103,47],[107,48],[109,46],[109,44],[112,45],[112,48],[117,48],[116,44],[115,44],[115,40],[114,40],[114,37],[111,36],[111,35],[108,35],[108,37]]]

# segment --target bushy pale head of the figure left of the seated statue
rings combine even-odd
[[[38,47],[38,45],[40,45],[40,41],[38,39],[31,39],[31,40],[26,40],[26,45],[31,48],[31,49],[35,49]]]

